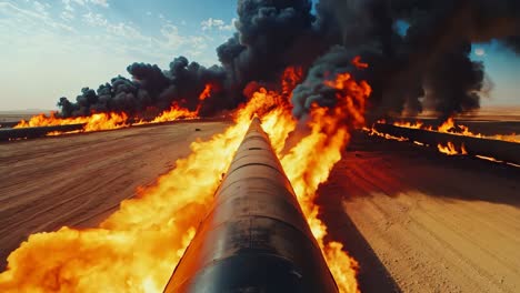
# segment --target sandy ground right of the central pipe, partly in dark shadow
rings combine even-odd
[[[519,292],[520,169],[359,137],[320,189],[363,292]]]

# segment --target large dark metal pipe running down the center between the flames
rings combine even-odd
[[[164,292],[338,292],[258,118]]]

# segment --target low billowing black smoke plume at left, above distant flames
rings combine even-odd
[[[132,80],[117,77],[110,83],[99,85],[94,91],[89,88],[81,90],[76,103],[61,98],[58,105],[61,115],[88,115],[91,112],[126,112],[139,115],[147,109],[156,112],[169,109],[172,103],[181,104],[190,110],[198,107],[198,97],[206,84],[212,84],[212,97],[206,101],[201,113],[211,113],[216,99],[221,98],[221,84],[226,73],[221,68],[204,68],[197,62],[189,62],[184,57],[176,58],[170,63],[170,70],[162,71],[157,65],[133,63],[127,68]]]

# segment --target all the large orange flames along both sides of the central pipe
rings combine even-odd
[[[289,79],[287,87],[297,80]],[[341,159],[351,128],[364,124],[371,89],[348,73],[324,85],[336,90],[338,105],[312,107],[310,132],[290,150],[283,151],[297,125],[290,94],[260,89],[236,112],[233,125],[208,141],[193,142],[188,158],[123,201],[99,228],[62,228],[29,236],[9,255],[0,292],[161,292],[210,209],[221,174],[253,115],[263,121],[340,292],[359,292],[358,264],[341,243],[324,241],[327,226],[318,219],[314,199]]]

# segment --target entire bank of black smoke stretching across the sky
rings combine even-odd
[[[310,0],[239,0],[237,32],[217,48],[219,65],[183,57],[168,70],[133,63],[131,80],[84,88],[76,102],[61,98],[61,114],[139,114],[176,102],[211,115],[243,102],[251,82],[276,87],[287,67],[298,65],[307,74],[294,90],[298,117],[312,102],[333,107],[322,80],[346,71],[371,84],[371,118],[426,109],[451,115],[478,109],[487,90],[483,64],[470,59],[472,43],[497,40],[520,53],[518,0],[321,0],[314,11]],[[409,26],[404,34],[399,22]],[[353,69],[356,55],[369,69]],[[212,94],[201,102],[208,83]]]

